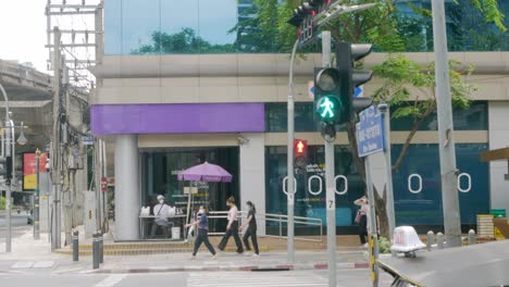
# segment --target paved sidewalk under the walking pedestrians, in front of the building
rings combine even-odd
[[[297,250],[295,263],[287,264],[285,251],[262,252],[259,258],[220,252],[218,260],[200,250],[196,261],[190,253],[167,253],[151,255],[104,255],[104,264],[92,270],[91,257],[80,257],[73,262],[71,255],[52,253],[47,234],[40,240],[33,239],[32,230],[13,240],[12,252],[5,253],[0,244],[0,273],[52,272],[69,273],[156,273],[196,271],[261,271],[261,270],[324,270],[327,267],[326,250]],[[364,249],[338,248],[338,269],[365,269]]]

